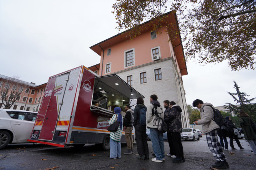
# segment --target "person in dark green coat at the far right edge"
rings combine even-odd
[[[253,131],[252,119],[243,110],[239,110],[239,122],[243,128],[244,138],[249,142],[253,154],[256,154],[256,134]]]

